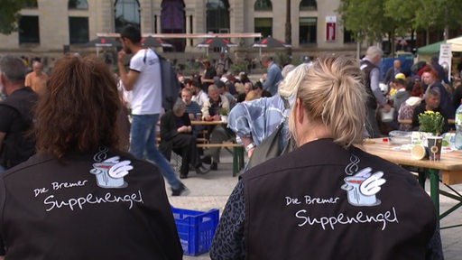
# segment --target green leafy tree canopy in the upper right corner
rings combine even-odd
[[[356,41],[379,41],[387,35],[394,42],[396,35],[415,30],[429,33],[460,27],[460,0],[341,0],[337,9],[341,23],[354,32]],[[392,44],[394,46],[394,44]]]

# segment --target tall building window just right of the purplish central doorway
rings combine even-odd
[[[207,1],[207,32],[229,32],[229,4],[227,1]]]

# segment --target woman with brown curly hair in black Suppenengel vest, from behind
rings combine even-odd
[[[120,107],[102,60],[56,63],[35,110],[37,154],[0,177],[0,255],[181,259],[161,172],[119,149]]]

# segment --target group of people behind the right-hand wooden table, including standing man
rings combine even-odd
[[[439,65],[436,56],[432,57],[429,63],[419,62],[419,66],[413,71],[402,70],[400,60],[394,60],[393,67],[385,73],[383,83],[387,88],[383,91],[379,88],[377,74],[378,60],[382,55],[383,51],[373,46],[367,50],[363,61],[373,60],[369,64],[374,68],[369,70],[369,67],[364,67],[363,70],[366,84],[370,86],[366,90],[374,89],[371,92],[374,94],[369,95],[374,97],[368,109],[369,135],[379,137],[388,135],[393,130],[418,131],[419,115],[425,111],[439,112],[444,117],[443,132],[454,129],[454,125],[448,124],[448,119],[454,119],[455,111],[461,104],[462,81],[454,79],[449,82],[448,73]],[[393,113],[392,120],[383,120],[381,113],[377,112]]]

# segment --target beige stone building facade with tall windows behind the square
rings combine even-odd
[[[289,1],[294,59],[323,53],[356,55],[356,43],[344,34],[335,11],[339,1]],[[262,32],[284,41],[286,12],[286,0],[37,0],[37,5],[20,11],[20,32],[0,34],[0,53],[53,58],[63,51],[94,52],[82,44],[96,38],[97,33],[117,32],[122,23],[131,22],[138,23],[145,34]],[[164,40],[175,46],[174,50],[164,49],[168,52],[165,56],[172,59],[205,52],[195,47],[204,39]],[[258,56],[260,50],[251,47],[258,39],[230,40],[240,43],[230,53]]]

